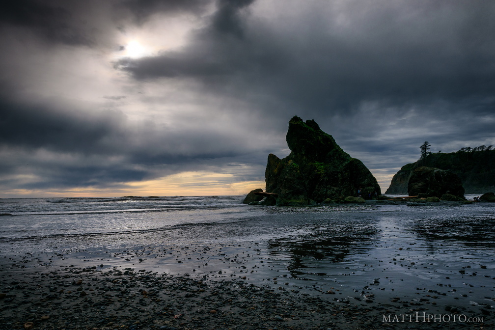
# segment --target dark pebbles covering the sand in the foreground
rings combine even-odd
[[[201,265],[203,264],[201,261]],[[412,265],[412,263],[409,264]],[[261,263],[259,265],[261,266]],[[227,266],[223,267],[227,269]],[[371,283],[367,280],[363,285],[369,284],[369,287],[368,285],[362,289],[356,287],[355,293],[352,294],[346,289],[340,287],[335,289],[330,285],[326,287],[328,290],[325,291],[325,283],[319,285],[315,283],[316,285],[311,286],[299,284],[301,286],[297,287],[293,282],[295,280],[291,280],[291,283],[284,283],[287,286],[275,286],[273,284],[276,283],[277,277],[270,276],[264,277],[264,281],[269,280],[268,284],[266,284],[267,282],[263,283],[265,285],[256,284],[256,282],[246,283],[246,281],[241,281],[241,279],[247,279],[247,276],[244,275],[247,274],[246,271],[243,272],[244,274],[237,273],[239,276],[234,274],[235,271],[232,273],[230,270],[227,273],[221,271],[220,274],[224,275],[216,276],[218,268],[211,270],[211,272],[208,270],[210,275],[203,276],[203,281],[199,281],[201,275],[198,276],[198,274],[194,274],[194,276],[191,274],[189,277],[151,273],[146,270],[143,272],[125,270],[127,276],[122,276],[125,274],[123,273],[124,270],[120,271],[118,267],[106,271],[98,269],[95,272],[90,271],[90,268],[86,269],[88,270],[86,273],[78,275],[78,277],[82,277],[82,280],[74,280],[73,278],[75,271],[82,272],[77,267],[74,268],[74,272],[68,271],[67,268],[53,272],[50,270],[50,277],[46,276],[47,273],[44,274],[45,277],[43,278],[34,277],[29,280],[33,283],[33,288],[28,287],[31,284],[25,284],[27,283],[25,279],[18,279],[20,285],[25,285],[25,288],[11,287],[8,288],[8,292],[5,291],[6,293],[0,294],[0,298],[5,299],[0,300],[0,305],[5,307],[0,314],[3,314],[4,311],[8,312],[10,316],[8,321],[12,324],[5,329],[22,329],[22,325],[29,326],[28,321],[33,320],[36,321],[31,322],[33,326],[29,330],[99,329],[103,327],[109,330],[142,330],[148,329],[148,325],[153,325],[150,329],[155,330],[177,330],[172,325],[179,329],[185,329],[184,327],[188,329],[215,329],[216,324],[229,325],[235,328],[236,322],[239,322],[238,328],[253,330],[263,328],[264,324],[270,321],[272,327],[266,325],[267,329],[276,329],[273,327],[275,324],[278,325],[278,329],[285,328],[283,326],[286,324],[287,328],[297,324],[300,326],[296,329],[326,329],[331,327],[330,329],[336,330],[344,329],[346,323],[354,325],[352,329],[379,329],[396,326],[393,323],[382,324],[382,314],[388,315],[395,312],[399,314],[406,311],[407,309],[403,307],[406,302],[414,306],[412,308],[418,305],[400,296],[400,298],[396,298],[398,304],[394,304],[392,307],[389,303],[388,306],[384,304],[385,307],[382,307],[381,303],[384,302],[384,299],[388,300],[389,296],[392,296],[389,287],[387,287],[386,295],[384,295],[378,291],[381,289],[380,287],[371,286],[379,285],[378,279]],[[480,275],[484,275],[482,272],[480,270]],[[455,276],[455,273],[457,271],[452,270],[450,274],[452,279],[461,277],[459,273]],[[226,274],[234,274],[233,279],[225,282],[208,279],[208,277],[224,278]],[[282,279],[287,276],[284,275],[286,274],[282,274],[278,278]],[[30,275],[27,275],[26,278],[28,276]],[[464,277],[467,276],[464,275]],[[478,278],[481,277],[478,276]],[[4,280],[3,283],[8,285],[14,279],[11,278],[8,282]],[[387,281],[382,280],[382,282]],[[38,285],[36,291],[34,290],[34,283]],[[73,285],[79,283],[77,284],[79,286],[71,286],[72,283],[74,283]],[[446,284],[443,286],[443,290],[449,290],[445,288]],[[72,292],[69,293],[68,289],[71,289]],[[443,293],[433,290],[429,291],[432,294],[430,296],[424,293],[427,291],[426,289],[417,290],[421,290],[418,292],[421,294],[418,298],[437,297],[433,296],[433,293],[440,297],[443,295]],[[467,293],[467,291],[465,292]],[[37,293],[39,294],[37,295]],[[463,293],[459,289],[458,293],[452,295],[460,297]],[[29,297],[28,294],[31,296]],[[472,294],[469,293],[469,295]],[[49,296],[50,298],[48,298]],[[192,299],[183,299],[184,296]],[[350,299],[350,301],[346,298],[353,296],[355,299]],[[432,308],[434,302],[429,300],[433,298],[418,300],[424,301],[424,304],[429,304],[423,305],[424,308]],[[18,301],[16,302],[16,300]],[[439,299],[439,305],[435,307],[435,310],[444,308],[445,303],[441,300]],[[464,300],[467,301],[468,299]],[[464,310],[462,303],[459,301],[458,307],[462,313],[493,314],[493,310],[490,310],[488,305],[487,307],[480,305],[481,310],[468,312]],[[22,309],[22,306],[30,307]],[[455,308],[452,311],[455,311]],[[12,317],[14,313],[20,316],[14,319]],[[50,318],[47,315],[49,313],[56,314],[52,314]],[[43,316],[38,319],[33,314]],[[79,315],[80,321],[76,315]],[[173,319],[174,315],[178,316],[175,320]],[[179,317],[179,315],[181,316]],[[34,318],[28,319],[28,316]],[[98,320],[100,321],[97,322]],[[140,320],[141,323],[131,326],[136,320]],[[0,315],[0,325],[9,326],[6,321],[7,319]],[[227,329],[227,326],[225,328]],[[443,329],[448,329],[448,327],[444,326]],[[24,330],[28,329],[24,328]]]

